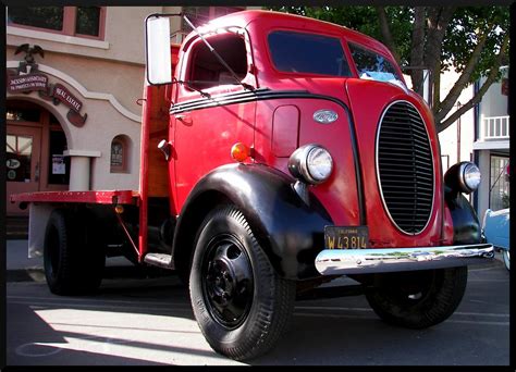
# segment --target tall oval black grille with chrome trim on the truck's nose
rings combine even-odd
[[[392,222],[406,234],[422,232],[432,213],[432,149],[421,115],[406,101],[394,102],[383,113],[377,175]]]

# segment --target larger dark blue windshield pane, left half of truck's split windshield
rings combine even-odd
[[[269,34],[268,41],[272,63],[279,71],[352,76],[339,38],[278,30]]]

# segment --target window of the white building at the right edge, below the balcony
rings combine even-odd
[[[509,207],[511,188],[505,176],[507,157],[491,156],[489,208],[493,211]]]

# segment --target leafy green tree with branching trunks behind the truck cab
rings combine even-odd
[[[489,86],[500,80],[500,65],[508,65],[509,27],[508,7],[426,7],[425,22],[417,28],[416,14],[421,8],[414,7],[277,7],[272,10],[300,14],[340,24],[369,35],[391,49],[403,66],[425,66],[432,71],[433,104],[438,132],[445,129],[462,114],[477,104]],[[381,22],[385,14],[388,27]],[[415,33],[415,30],[422,30]],[[445,30],[442,33],[441,30]],[[413,41],[413,35],[422,39]],[[418,37],[419,38],[419,37]],[[483,49],[480,40],[484,40]],[[411,55],[413,42],[421,46],[422,55]],[[504,51],[500,54],[503,47]],[[419,49],[414,49],[417,52]],[[476,51],[474,53],[474,51]],[[499,55],[500,54],[500,55]],[[414,60],[411,60],[414,58]],[[454,69],[462,74],[450,94],[441,101],[441,72]],[[492,72],[492,73],[491,73]],[[417,70],[407,70],[416,89],[422,91],[422,77]],[[453,112],[460,91],[477,82],[481,76],[486,80],[479,91],[460,109]]]

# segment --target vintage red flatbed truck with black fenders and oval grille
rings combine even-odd
[[[459,305],[493,247],[441,171],[431,110],[379,41],[327,22],[244,11],[181,46],[146,20],[137,190],[13,195],[50,290],[95,292],[107,256],[175,270],[211,347],[248,360],[294,301],[365,294],[384,321],[423,328]],[[346,275],[352,288],[323,284]],[[359,289],[359,290],[358,290]]]

